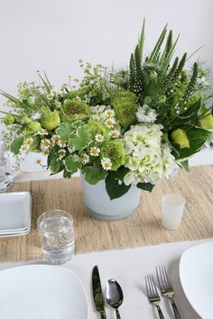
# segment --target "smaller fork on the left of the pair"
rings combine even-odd
[[[157,287],[154,283],[153,275],[145,276],[145,287],[146,287],[146,293],[147,293],[149,302],[156,306],[158,314],[159,314],[159,318],[164,319],[164,316],[162,314],[162,309],[159,305],[161,301],[161,297],[159,296]]]

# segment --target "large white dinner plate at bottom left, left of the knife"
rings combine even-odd
[[[88,301],[69,269],[29,265],[0,271],[0,317],[87,319]]]

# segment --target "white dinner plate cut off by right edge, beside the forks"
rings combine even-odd
[[[213,318],[213,242],[194,246],[181,255],[181,286],[190,305],[203,319]]]

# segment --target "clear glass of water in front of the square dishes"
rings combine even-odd
[[[63,210],[43,213],[37,221],[43,258],[51,264],[62,264],[75,253],[75,236],[71,214]]]

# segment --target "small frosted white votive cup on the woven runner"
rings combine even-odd
[[[185,199],[181,194],[171,193],[162,196],[162,226],[176,230],[181,225]]]

